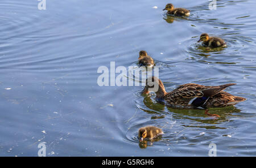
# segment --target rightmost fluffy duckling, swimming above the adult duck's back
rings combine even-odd
[[[200,40],[197,42],[200,41],[203,41],[203,44],[210,48],[218,48],[220,46],[226,47],[226,42],[222,40],[220,37],[210,37],[207,33],[203,33],[200,36]]]

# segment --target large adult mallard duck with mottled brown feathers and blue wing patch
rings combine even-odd
[[[165,100],[168,105],[182,108],[200,108],[206,109],[205,114],[209,114],[208,108],[226,107],[236,105],[238,102],[245,101],[246,98],[233,96],[223,90],[235,83],[229,83],[219,86],[204,86],[194,83],[183,84],[174,89],[174,91],[166,92],[164,85],[157,77],[149,77],[146,80],[146,86],[142,93],[147,94],[150,91],[156,93],[157,100]]]

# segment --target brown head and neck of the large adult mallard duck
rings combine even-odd
[[[155,92],[157,98],[162,98],[166,94],[166,89],[164,89],[164,85],[160,79],[151,76],[147,78],[146,86],[141,93],[148,94],[149,92]]]

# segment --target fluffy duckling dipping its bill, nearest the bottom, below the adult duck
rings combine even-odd
[[[139,128],[139,141],[143,141],[143,139],[154,139],[155,137],[162,135],[163,131],[161,128],[154,126],[147,126]]]

